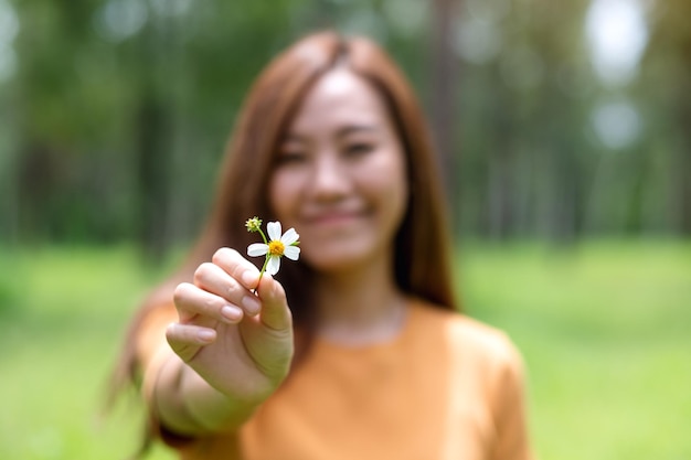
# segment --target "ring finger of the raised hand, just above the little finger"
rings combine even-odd
[[[181,323],[188,323],[198,314],[202,314],[228,324],[236,324],[244,315],[240,307],[189,282],[182,282],[176,287],[173,301]]]

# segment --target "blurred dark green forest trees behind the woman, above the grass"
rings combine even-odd
[[[685,0],[0,0],[0,240],[188,243],[251,82],[322,26],[418,90],[458,235],[691,235]]]

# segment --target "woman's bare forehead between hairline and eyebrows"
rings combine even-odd
[[[309,89],[291,130],[326,129],[344,124],[389,125],[382,96],[361,76],[343,68],[328,72]]]

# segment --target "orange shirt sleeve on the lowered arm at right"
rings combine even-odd
[[[523,360],[515,346],[506,340],[498,363],[493,415],[497,443],[492,460],[532,460],[525,410]]]

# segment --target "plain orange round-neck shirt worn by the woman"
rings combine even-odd
[[[162,334],[143,331],[156,329]],[[156,343],[141,342],[145,360]],[[237,432],[179,451],[184,460],[530,459],[522,362],[502,332],[413,301],[393,341],[316,339]]]

